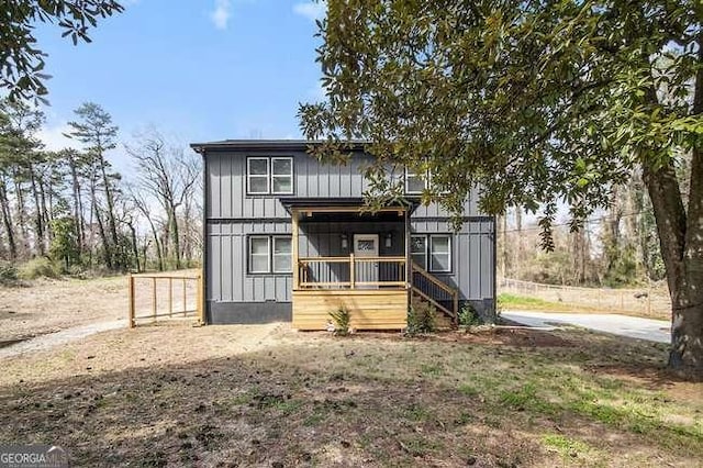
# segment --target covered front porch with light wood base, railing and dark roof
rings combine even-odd
[[[355,330],[402,330],[408,325],[414,283],[444,292],[454,304],[457,292],[411,261],[410,214],[414,207],[365,211],[361,202],[284,202],[292,216],[292,325],[325,330],[330,312],[344,307]],[[423,280],[423,275],[429,280]],[[440,285],[437,287],[434,282]],[[444,287],[444,289],[442,289]],[[424,300],[433,301],[427,290]],[[442,307],[442,301],[436,302]],[[453,307],[454,308],[454,307]]]

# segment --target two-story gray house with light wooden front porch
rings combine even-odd
[[[347,165],[324,164],[308,141],[192,144],[204,161],[204,310],[208,323],[292,321],[324,330],[345,305],[357,330],[406,325],[413,297],[450,321],[470,304],[495,313],[495,220],[465,203],[453,232],[438,205],[406,200],[362,210],[372,161],[364,145]]]

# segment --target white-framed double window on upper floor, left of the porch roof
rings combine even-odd
[[[292,194],[292,157],[248,157],[246,185],[249,194]]]

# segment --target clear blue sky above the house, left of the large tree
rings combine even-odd
[[[112,114],[121,141],[147,125],[183,144],[301,136],[299,102],[322,97],[313,35],[323,5],[301,0],[122,3],[125,12],[99,23],[91,44],[74,46],[53,25],[37,29],[53,75],[41,134],[47,146],[66,144],[60,134],[85,101]]]

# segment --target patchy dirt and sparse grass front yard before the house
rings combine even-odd
[[[75,466],[699,467],[703,383],[665,356],[583,331],[114,330],[0,359],[0,441]]]

